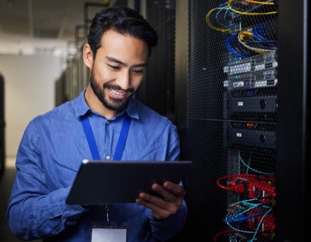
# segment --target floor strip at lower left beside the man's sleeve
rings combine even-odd
[[[11,232],[6,219],[6,211],[8,200],[11,194],[12,185],[16,174],[15,158],[6,160],[6,169],[0,177],[0,241],[1,242],[16,242],[23,241],[16,238]],[[42,240],[33,240],[42,241]]]

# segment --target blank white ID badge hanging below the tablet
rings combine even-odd
[[[126,242],[126,223],[92,223],[91,242]]]

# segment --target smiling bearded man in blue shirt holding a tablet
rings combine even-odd
[[[130,126],[121,160],[179,158],[176,127],[131,98],[157,41],[156,32],[133,10],[109,8],[96,14],[83,49],[90,68],[88,87],[74,100],[34,118],[21,141],[7,211],[16,236],[91,241],[92,222],[106,222],[105,206],[65,203],[81,161],[94,158],[83,120],[90,124],[102,160],[116,156],[124,120]],[[141,193],[136,203],[108,205],[110,221],[127,224],[128,241],[165,241],[185,224],[183,187],[166,182],[152,189],[164,199]]]

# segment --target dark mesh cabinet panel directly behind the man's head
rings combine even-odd
[[[176,1],[146,1],[146,20],[159,40],[152,49],[145,78],[144,103],[162,115],[175,111],[175,16]]]

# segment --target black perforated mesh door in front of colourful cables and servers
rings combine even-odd
[[[205,241],[274,240],[275,11],[274,1],[189,2],[187,202]]]

